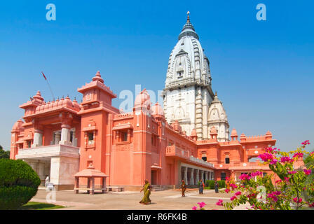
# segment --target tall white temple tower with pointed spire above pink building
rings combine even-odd
[[[198,34],[190,22],[188,12],[186,24],[169,57],[163,90],[165,118],[168,123],[177,120],[187,135],[191,135],[195,128],[198,139],[210,139],[209,130],[212,125],[219,134],[222,133],[220,128],[223,128],[224,134],[218,134],[218,137],[221,141],[226,141],[228,121],[226,120],[226,125],[217,125],[210,120],[210,104],[214,99],[211,81],[210,61],[198,41]]]

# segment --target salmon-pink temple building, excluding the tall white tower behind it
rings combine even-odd
[[[78,92],[81,104],[69,97],[44,102],[37,92],[20,106],[24,121],[18,120],[11,132],[11,159],[25,160],[42,180],[49,175],[59,190],[73,189],[74,175],[92,165],[107,176],[107,186],[129,189],[145,179],[174,187],[182,179],[196,185],[200,179],[236,180],[243,172],[270,172],[249,160],[275,144],[271,132],[238,139],[233,129],[231,141],[224,142],[217,141],[214,127],[207,140],[198,140],[195,130],[186,136],[178,122],[168,124],[161,105],[151,105],[146,90],[136,97],[132,113],[120,113],[111,106],[116,94],[99,71]]]

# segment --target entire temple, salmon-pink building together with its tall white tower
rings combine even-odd
[[[78,88],[81,104],[69,97],[45,102],[37,92],[20,106],[25,116],[12,129],[11,159],[25,160],[43,181],[50,176],[58,190],[74,189],[79,176],[92,177],[81,185],[100,186],[105,179],[107,186],[131,189],[145,179],[173,188],[182,179],[196,185],[200,179],[236,181],[241,173],[270,172],[249,160],[275,145],[271,132],[239,139],[233,129],[230,141],[226,111],[211,81],[209,59],[188,17],[170,54],[164,110],[142,90],[133,111],[121,113],[98,71]],[[94,183],[95,176],[100,180]]]

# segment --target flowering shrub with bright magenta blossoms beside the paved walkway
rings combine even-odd
[[[230,198],[231,202],[219,200],[217,205],[233,209],[240,204],[249,203],[250,209],[260,210],[314,207],[314,183],[307,181],[314,166],[310,165],[308,169],[294,169],[294,163],[303,158],[303,155],[307,154],[314,158],[314,153],[304,150],[310,142],[303,141],[301,144],[302,146],[296,151],[289,153],[281,152],[277,148],[266,148],[259,158],[269,166],[279,180],[273,183],[274,174],[263,176],[261,171],[242,174],[239,177],[240,183],[232,186],[233,190],[237,189],[237,192]],[[310,195],[310,197],[306,198],[303,195]]]

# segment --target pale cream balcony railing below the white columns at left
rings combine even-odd
[[[53,156],[65,156],[79,158],[80,148],[67,145],[39,146],[35,148],[19,149],[17,159],[50,158]]]

